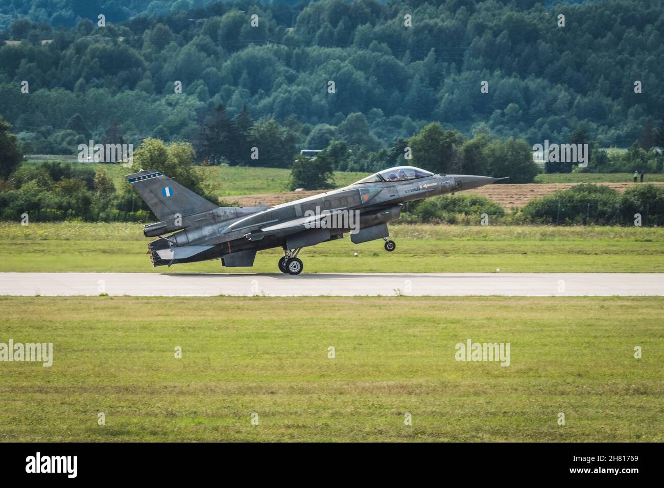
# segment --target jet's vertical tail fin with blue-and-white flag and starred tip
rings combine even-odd
[[[159,220],[208,212],[218,208],[214,203],[183,187],[159,171],[146,169],[125,176]]]

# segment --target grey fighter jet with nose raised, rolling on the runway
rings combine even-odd
[[[256,252],[282,248],[278,267],[297,275],[302,248],[350,234],[355,244],[382,239],[388,252],[387,224],[401,216],[404,203],[489,185],[503,178],[443,175],[412,166],[379,171],[341,189],[289,203],[217,206],[177,181],[151,169],[125,177],[159,222],[143,234],[153,266],[221,259],[228,268],[253,266]],[[174,233],[171,233],[174,232]],[[169,234],[169,235],[166,235]]]

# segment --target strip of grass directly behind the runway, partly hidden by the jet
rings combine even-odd
[[[259,252],[253,268],[219,261],[153,268],[141,224],[0,222],[0,272],[275,273],[283,252]],[[347,237],[304,248],[305,273],[331,272],[664,272],[664,229],[549,226],[390,226],[382,241]],[[358,256],[355,256],[357,252]]]

